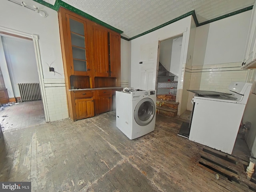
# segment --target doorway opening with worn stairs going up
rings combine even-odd
[[[178,82],[180,81],[183,34],[159,41],[157,68],[157,111],[175,117],[178,113]]]

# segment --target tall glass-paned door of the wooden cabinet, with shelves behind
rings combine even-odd
[[[86,59],[86,22],[72,16],[67,16],[67,20],[71,42],[70,57],[73,61],[74,74],[82,74],[77,72],[88,71]]]

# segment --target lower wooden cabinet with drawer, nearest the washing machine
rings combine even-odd
[[[112,106],[112,90],[98,90],[97,92],[98,114],[110,111]]]

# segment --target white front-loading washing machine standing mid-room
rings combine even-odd
[[[156,90],[116,91],[116,126],[129,139],[155,130]]]

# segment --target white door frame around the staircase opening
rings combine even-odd
[[[172,34],[170,36],[166,36],[164,38],[159,38],[158,39],[158,50],[157,50],[157,65],[156,65],[156,89],[157,89],[157,75],[158,75],[158,67],[159,67],[159,59],[160,59],[160,42],[169,38],[173,38],[175,36],[181,36],[182,35],[182,46],[181,46],[181,53],[180,53],[180,68],[179,68],[179,76],[178,76],[178,87],[177,87],[177,93],[176,93],[176,102],[180,102],[180,87],[181,87],[181,82],[182,82],[182,87],[183,87],[183,77],[182,77],[182,63],[183,63],[183,58],[184,58],[184,51],[185,51],[185,43],[186,43],[186,30],[183,30],[181,32],[178,32],[176,34]],[[186,63],[186,61],[185,61]],[[184,74],[183,74],[184,76]],[[179,105],[180,106],[180,105]]]

